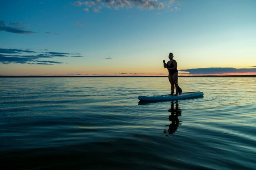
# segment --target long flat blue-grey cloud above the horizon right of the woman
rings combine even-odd
[[[233,68],[233,67],[211,67],[211,68],[191,68],[182,69],[189,74],[224,74],[224,73],[256,73],[256,68]]]

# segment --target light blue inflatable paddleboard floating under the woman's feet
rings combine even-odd
[[[200,97],[204,95],[201,91],[196,92],[186,92],[182,93],[180,96],[170,96],[170,95],[154,95],[154,96],[139,96],[140,101],[167,101],[167,100],[180,100],[180,99],[190,99],[195,97]]]

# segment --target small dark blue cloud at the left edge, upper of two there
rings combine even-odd
[[[21,22],[10,22],[9,25],[5,24],[4,21],[0,21],[0,31],[6,31],[9,33],[17,34],[33,34],[36,32],[24,30],[24,26]]]

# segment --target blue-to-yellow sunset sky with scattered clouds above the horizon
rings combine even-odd
[[[256,75],[256,0],[1,0],[0,75]]]

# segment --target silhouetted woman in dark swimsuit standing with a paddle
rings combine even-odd
[[[168,75],[168,78],[169,78],[169,82],[171,83],[171,94],[169,95],[174,95],[174,86],[176,88],[176,94],[175,96],[178,95],[178,90],[177,90],[177,85],[176,83],[178,84],[178,70],[177,70],[177,62],[175,60],[173,60],[173,53],[169,53],[169,61],[167,62],[167,64],[164,62],[164,68],[167,68],[168,69],[168,72],[169,72],[169,75]],[[171,76],[171,75],[173,76]],[[175,82],[173,81],[173,79],[175,79]]]

